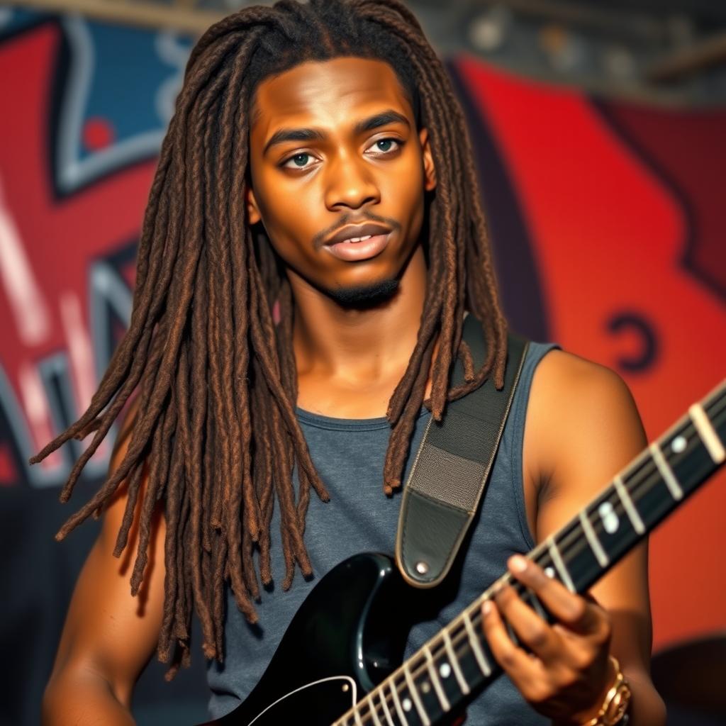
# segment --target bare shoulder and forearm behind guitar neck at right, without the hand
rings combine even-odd
[[[538,410],[539,431],[547,433],[539,438],[544,448],[537,458],[548,476],[537,516],[540,542],[590,502],[648,443],[635,401],[619,375],[562,351],[550,356],[542,361],[549,385]],[[610,652],[632,687],[630,723],[664,723],[664,705],[650,681],[647,541],[591,592],[608,611]]]

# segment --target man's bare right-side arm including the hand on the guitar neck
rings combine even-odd
[[[616,373],[552,351],[537,368],[524,434],[524,476],[539,492],[531,525],[539,542],[560,529],[645,447],[635,402]],[[516,574],[516,568],[522,571]],[[592,588],[597,603],[568,592],[521,558],[510,569],[558,619],[550,627],[507,588],[485,616],[492,650],[528,701],[553,722],[586,723],[613,682],[608,653],[632,687],[631,726],[662,726],[663,701],[650,681],[648,550],[643,544]],[[537,658],[515,648],[499,610]],[[505,661],[505,662],[502,662]]]

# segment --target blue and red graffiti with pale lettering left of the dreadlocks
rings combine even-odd
[[[19,11],[2,31],[13,111],[0,118],[0,481],[57,486],[83,442],[26,462],[83,412],[129,320],[136,236],[189,41]],[[101,476],[108,454],[84,476]]]

